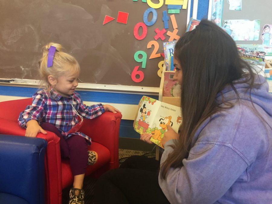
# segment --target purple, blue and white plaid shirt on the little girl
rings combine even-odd
[[[72,99],[73,97],[73,99]],[[105,112],[101,103],[97,105],[86,106],[80,95],[74,92],[69,98],[63,97],[50,89],[50,94],[46,90],[41,90],[33,95],[32,105],[28,105],[26,109],[20,113],[18,123],[21,127],[25,127],[30,120],[37,120],[40,123],[49,122],[55,125],[64,139],[77,134],[85,138],[91,144],[92,140],[82,132],[67,133],[79,120],[78,115],[73,112],[73,106],[83,118],[96,118]]]

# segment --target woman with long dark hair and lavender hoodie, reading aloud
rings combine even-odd
[[[158,162],[152,169],[148,158],[131,157],[99,178],[95,203],[272,203],[272,94],[264,77],[207,20],[178,40],[174,66],[183,123],[180,134],[170,126],[164,133],[159,175]]]

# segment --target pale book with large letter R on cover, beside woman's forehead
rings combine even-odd
[[[173,65],[174,49],[177,40],[170,42],[164,42],[164,63],[167,71],[174,71],[175,67]]]

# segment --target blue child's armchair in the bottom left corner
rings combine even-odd
[[[0,134],[0,203],[44,204],[47,142]]]

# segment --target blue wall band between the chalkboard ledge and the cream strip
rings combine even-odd
[[[17,87],[17,86],[0,86],[0,95],[4,96],[20,96],[32,97],[37,91],[37,88]],[[129,93],[108,93],[108,92],[93,92],[93,91],[77,91],[83,101],[105,102],[105,103],[120,103],[138,105],[142,94],[129,94]],[[158,100],[159,96],[146,95],[153,99]]]

